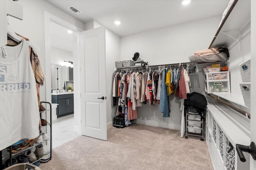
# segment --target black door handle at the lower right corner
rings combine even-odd
[[[236,144],[236,150],[237,150],[237,154],[242,162],[246,161],[246,159],[244,158],[243,151],[251,154],[252,158],[254,160],[256,160],[256,145],[254,142],[251,142],[250,146]]]

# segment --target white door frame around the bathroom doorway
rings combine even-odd
[[[44,11],[44,46],[45,46],[45,75],[46,75],[46,101],[52,103],[51,97],[51,78],[48,75],[51,75],[51,69],[48,66],[51,64],[50,60],[50,22],[55,22],[59,25],[62,25],[74,32],[73,34],[73,59],[74,59],[74,131],[81,134],[81,109],[80,109],[80,32],[84,31],[83,29],[65,21],[57,16],[50,14],[49,12]],[[50,115],[49,115],[50,116]]]

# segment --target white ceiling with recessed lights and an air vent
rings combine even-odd
[[[46,0],[82,22],[95,20],[120,37],[222,15],[228,0]],[[81,14],[68,7],[74,6]],[[220,18],[221,19],[221,18]],[[114,25],[115,20],[122,23]]]

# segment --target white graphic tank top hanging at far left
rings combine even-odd
[[[0,47],[0,150],[38,137],[39,119],[28,41]]]

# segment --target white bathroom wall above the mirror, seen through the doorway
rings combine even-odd
[[[62,65],[64,61],[73,61],[73,53],[51,46],[51,64]]]

